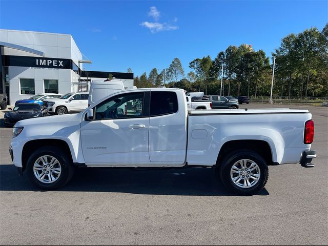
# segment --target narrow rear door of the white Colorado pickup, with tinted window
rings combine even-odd
[[[180,103],[178,105],[175,91],[151,91],[149,156],[152,164],[182,165],[185,162],[187,111],[185,101]]]

